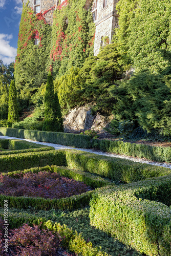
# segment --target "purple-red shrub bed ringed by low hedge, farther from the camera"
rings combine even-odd
[[[0,194],[16,197],[66,198],[90,190],[83,182],[50,172],[0,175],[0,182]]]

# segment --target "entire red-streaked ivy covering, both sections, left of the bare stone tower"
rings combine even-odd
[[[84,60],[93,55],[95,24],[91,8],[84,9],[85,4],[86,0],[65,0],[54,11],[52,26],[47,13],[52,13],[54,7],[35,14],[31,3],[24,4],[15,60],[20,98],[28,99],[46,82],[47,71],[53,71],[54,77],[61,76],[72,66],[82,67]]]

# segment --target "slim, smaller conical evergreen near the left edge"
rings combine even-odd
[[[8,99],[8,122],[13,123],[19,120],[18,107],[17,107],[17,95],[15,88],[15,81],[10,83],[9,99]]]

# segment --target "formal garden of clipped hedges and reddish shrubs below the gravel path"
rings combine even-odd
[[[20,140],[0,147],[1,255],[171,255],[170,169]]]

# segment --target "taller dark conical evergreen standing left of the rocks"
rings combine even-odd
[[[58,97],[54,95],[54,84],[53,77],[51,74],[48,75],[48,80],[46,84],[45,120],[42,130],[48,132],[63,131],[60,105]]]

